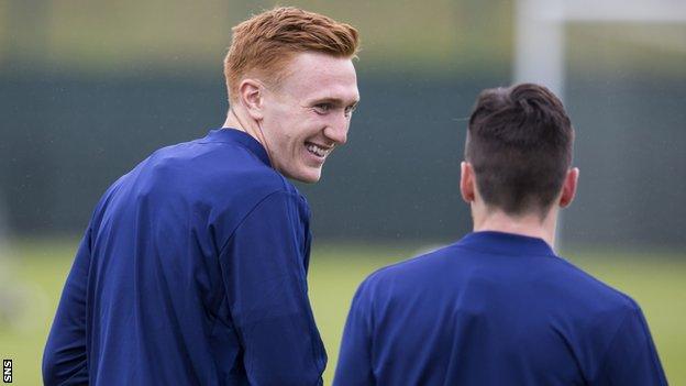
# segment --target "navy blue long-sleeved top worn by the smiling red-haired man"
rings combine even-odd
[[[45,346],[45,384],[321,384],[309,217],[243,132],[155,152],[97,205]]]

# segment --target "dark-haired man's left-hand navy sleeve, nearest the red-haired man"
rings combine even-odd
[[[372,372],[372,322],[368,307],[369,296],[364,282],[353,297],[345,330],[341,341],[341,352],[336,366],[334,386],[376,385]]]

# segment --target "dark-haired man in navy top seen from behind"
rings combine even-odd
[[[666,384],[639,306],[553,251],[573,140],[547,89],[482,92],[460,184],[474,232],[361,285],[334,385]]]

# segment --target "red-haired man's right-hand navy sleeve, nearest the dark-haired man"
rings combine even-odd
[[[309,247],[299,197],[277,191],[241,222],[221,253],[231,317],[251,385],[321,385],[327,365],[307,294]]]

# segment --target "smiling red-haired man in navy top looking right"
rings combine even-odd
[[[158,150],[98,202],[43,357],[46,385],[318,385],[307,293],[316,183],[359,99],[355,29],[295,8],[239,24],[224,126]]]

